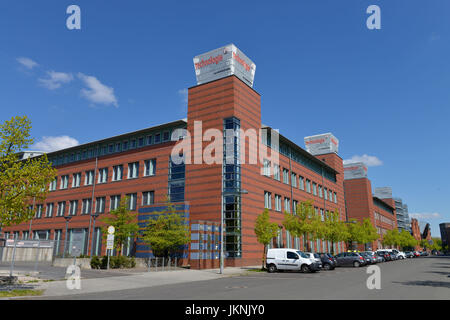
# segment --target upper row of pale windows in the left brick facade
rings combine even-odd
[[[109,168],[98,169],[97,183],[108,182]],[[94,170],[84,172],[84,185],[89,186],[94,183]],[[144,161],[144,177],[154,176],[156,174],[156,159],[149,159]],[[128,163],[127,179],[135,179],[139,177],[139,162]],[[72,175],[72,188],[78,188],[81,184],[81,172]],[[119,164],[112,167],[111,181],[120,181],[123,179],[123,165]],[[59,189],[67,189],[69,186],[69,175],[60,177]],[[58,185],[58,177],[56,177],[49,186],[49,191],[55,191]]]

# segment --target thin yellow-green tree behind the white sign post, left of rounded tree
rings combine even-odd
[[[123,245],[128,238],[134,238],[139,231],[139,225],[136,222],[137,214],[128,210],[128,202],[129,197],[122,199],[119,207],[109,213],[110,216],[105,216],[100,219],[105,224],[102,227],[104,238],[106,238],[108,233],[108,227],[114,227],[114,248],[117,250],[118,255],[122,255]]]

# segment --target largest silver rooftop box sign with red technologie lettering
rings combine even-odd
[[[194,58],[197,84],[235,75],[253,87],[256,65],[234,44],[230,44]]]

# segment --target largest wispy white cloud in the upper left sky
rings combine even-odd
[[[81,89],[81,95],[87,100],[92,103],[112,104],[116,108],[119,107],[113,88],[104,85],[96,77],[87,76],[81,72],[78,73],[78,78],[88,87],[88,89]]]

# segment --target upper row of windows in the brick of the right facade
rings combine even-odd
[[[269,160],[264,160],[263,162],[263,173],[265,176],[271,176],[271,162]],[[305,179],[302,176],[298,176],[295,172],[291,172],[291,183],[292,187],[299,188],[300,190],[306,191],[308,193],[312,193],[315,196],[319,196],[319,198],[324,198],[330,202],[337,203],[337,193],[333,192],[331,189],[327,189],[322,187],[322,185],[317,184],[314,181],[309,179]],[[280,181],[280,166],[273,166],[273,177],[275,180]],[[298,182],[298,183],[297,183]],[[289,184],[289,169],[283,168],[283,183]]]

